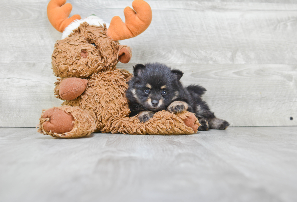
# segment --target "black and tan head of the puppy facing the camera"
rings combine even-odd
[[[141,108],[149,111],[161,111],[177,98],[182,86],[183,73],[171,70],[164,64],[137,64],[134,69],[132,94]]]

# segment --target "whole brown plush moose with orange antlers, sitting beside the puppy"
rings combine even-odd
[[[71,4],[51,0],[47,13],[62,39],[55,44],[52,69],[59,77],[54,94],[65,100],[60,107],[43,110],[38,132],[53,137],[83,137],[94,131],[123,134],[193,134],[199,127],[194,114],[159,111],[149,121],[129,118],[125,91],[131,74],[116,69],[118,61],[127,63],[131,48],[119,40],[145,31],[152,20],[152,10],[143,0],[135,0],[124,10],[125,23],[112,18],[109,27],[91,15],[68,18]]]

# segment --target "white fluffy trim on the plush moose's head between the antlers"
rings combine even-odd
[[[64,39],[64,38],[68,37],[72,33],[72,31],[74,29],[78,28],[78,26],[82,22],[87,22],[89,25],[97,25],[97,26],[100,26],[100,25],[103,26],[103,23],[105,23],[106,24],[106,28],[109,27],[109,23],[104,22],[101,18],[98,18],[96,15],[90,15],[90,16],[84,18],[84,19],[75,20],[72,23],[70,23],[65,28],[65,30],[63,31],[62,38],[61,39]]]

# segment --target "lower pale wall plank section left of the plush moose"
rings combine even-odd
[[[5,63],[0,77],[0,127],[36,126],[42,109],[62,104],[50,62]]]

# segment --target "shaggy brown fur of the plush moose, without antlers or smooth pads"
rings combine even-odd
[[[55,83],[56,97],[62,99],[59,89],[66,78],[85,78],[88,84],[81,95],[64,101],[58,107],[61,113],[64,111],[74,117],[71,131],[62,134],[46,131],[43,123],[51,120],[44,115],[45,111],[41,115],[38,131],[62,138],[83,137],[94,131],[123,134],[194,133],[195,127],[200,124],[197,119],[188,119],[192,115],[188,111],[178,114],[159,111],[145,123],[137,117],[128,117],[130,111],[125,91],[132,75],[126,70],[115,69],[119,50],[123,47],[130,50],[108,38],[105,25],[98,27],[87,23],[82,23],[69,37],[57,41],[52,54],[53,71],[61,78]],[[86,58],[83,57],[85,54]],[[184,121],[191,127],[186,126]]]

